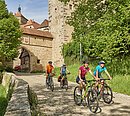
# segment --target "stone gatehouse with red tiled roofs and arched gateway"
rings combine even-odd
[[[40,25],[33,20],[26,20],[25,23],[26,18],[20,11],[15,13],[15,16],[20,19],[23,35],[20,38],[22,44],[19,56],[14,60],[13,66],[21,66],[22,70],[28,72],[44,70],[47,62],[52,60],[53,40],[51,33],[44,30],[47,28],[46,23]]]

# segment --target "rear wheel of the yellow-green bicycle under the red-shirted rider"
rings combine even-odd
[[[79,86],[76,86],[74,89],[74,101],[77,105],[81,105],[82,103],[82,91],[80,91],[80,94],[78,94],[79,91]]]

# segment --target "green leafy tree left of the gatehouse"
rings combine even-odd
[[[18,20],[9,13],[4,0],[0,0],[0,61],[12,60],[18,55],[21,30]]]

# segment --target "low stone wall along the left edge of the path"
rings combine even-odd
[[[13,74],[5,73],[2,84],[6,87],[7,97],[9,99],[4,116],[31,116],[34,112],[36,115],[37,112],[33,110],[34,107],[36,108],[37,97],[30,90],[27,82],[15,78]]]

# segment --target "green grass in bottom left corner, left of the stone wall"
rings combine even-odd
[[[0,85],[0,116],[4,116],[7,107],[6,91],[5,88]]]

